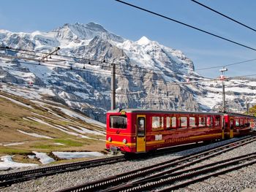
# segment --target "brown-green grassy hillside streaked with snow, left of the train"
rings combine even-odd
[[[15,154],[16,158],[20,161],[26,161],[28,160],[26,155],[33,150],[45,153],[50,153],[51,151],[104,151],[105,142],[101,140],[72,136],[35,120],[26,119],[37,118],[53,126],[62,126],[67,128],[68,131],[77,134],[79,133],[70,130],[68,126],[75,128],[80,126],[99,131],[104,131],[104,128],[99,128],[98,126],[93,126],[77,118],[72,118],[61,112],[58,108],[53,107],[53,104],[45,104],[44,107],[42,107],[35,102],[10,95],[9,93],[1,91],[0,95],[7,96],[8,98],[15,99],[16,101],[20,101],[23,104],[28,104],[33,107],[33,109],[30,109],[0,97],[0,156]],[[51,113],[49,111],[51,111]],[[56,115],[53,115],[53,112]],[[57,115],[62,118],[59,118]],[[42,134],[44,136],[52,137],[53,139],[32,137],[20,133],[17,131],[18,129],[28,133]],[[94,139],[105,139],[104,136],[94,134],[83,135]],[[4,146],[5,144],[10,144],[12,142],[24,142],[24,144]],[[56,143],[61,143],[63,145],[56,145]]]

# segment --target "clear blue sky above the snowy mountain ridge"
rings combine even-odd
[[[208,7],[256,28],[254,0],[198,0]],[[145,9],[202,28],[256,49],[256,32],[239,26],[190,0],[127,0]],[[0,28],[13,32],[51,31],[64,23],[101,24],[108,31],[136,41],[146,36],[167,47],[181,50],[195,69],[223,66],[256,58],[249,50],[164,18],[127,7],[114,0],[8,0],[1,1]],[[228,77],[256,74],[256,61],[227,67]],[[219,68],[197,71],[219,76]]]

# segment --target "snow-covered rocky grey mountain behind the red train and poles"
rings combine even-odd
[[[67,104],[102,122],[110,110],[111,63],[116,64],[118,108],[211,111],[219,110],[222,102],[221,82],[198,81],[206,78],[195,73],[193,62],[181,51],[146,37],[132,42],[97,23],[65,24],[48,33],[0,30],[0,42],[1,47],[34,51],[0,50],[2,82],[32,82],[28,94],[44,88],[49,91],[41,93],[41,99]],[[37,62],[45,56],[39,53],[56,47],[58,55]],[[246,110],[246,98],[255,103],[255,80],[230,80],[225,85],[230,110]]]

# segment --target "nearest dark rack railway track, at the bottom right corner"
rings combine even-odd
[[[219,174],[225,174],[236,169],[240,169],[243,166],[249,166],[256,164],[256,153],[250,153],[247,155],[239,156],[236,158],[225,159],[224,161],[218,161],[212,164],[206,164],[203,166],[197,166],[192,169],[187,169],[180,172],[164,174],[158,177],[151,177],[150,179],[140,180],[135,183],[129,183],[116,188],[111,188],[110,191],[145,191],[152,190],[152,188],[163,188],[164,185],[177,183],[185,180],[183,183],[167,186],[166,188],[159,189],[158,191],[172,191],[178,188],[185,187],[189,184],[206,180],[209,177],[214,177]],[[229,167],[231,166],[231,167]],[[229,168],[227,168],[229,167]],[[227,168],[227,169],[223,169]],[[221,169],[221,170],[219,170]],[[222,170],[223,169],[223,170]],[[219,170],[219,171],[217,171]],[[217,172],[216,172],[217,171]],[[214,172],[214,173],[213,173]],[[200,176],[200,177],[198,177]],[[195,178],[193,178],[195,177]],[[191,179],[192,178],[192,179]],[[190,180],[189,180],[190,179]],[[108,190],[109,191],[109,190]]]

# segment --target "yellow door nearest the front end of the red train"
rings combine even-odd
[[[146,115],[137,115],[137,152],[146,151]]]

